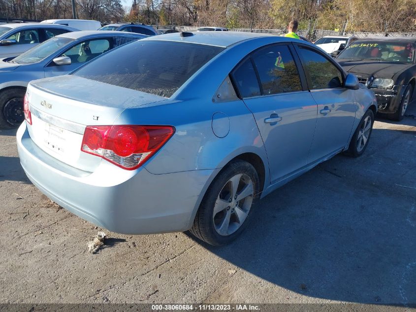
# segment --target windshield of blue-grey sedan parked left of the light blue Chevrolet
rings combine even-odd
[[[74,39],[71,38],[53,37],[36,45],[32,49],[14,58],[12,61],[18,64],[32,64],[39,62],[73,40]]]

